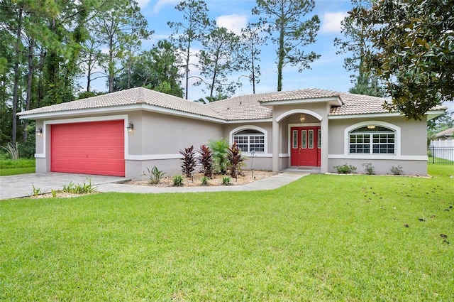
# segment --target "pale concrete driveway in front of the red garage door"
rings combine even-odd
[[[71,182],[82,185],[89,183],[98,186],[105,183],[117,183],[128,180],[124,177],[97,176],[70,173],[30,173],[13,176],[0,177],[0,200],[9,198],[28,197],[33,194],[33,185],[40,188],[41,193],[48,193],[50,190],[62,190],[64,185]]]

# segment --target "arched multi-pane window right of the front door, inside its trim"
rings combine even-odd
[[[349,132],[350,154],[395,154],[396,132],[384,126],[368,125]]]

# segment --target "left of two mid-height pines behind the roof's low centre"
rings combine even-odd
[[[199,54],[200,77],[196,85],[204,83],[209,90],[209,97],[233,95],[241,83],[228,78],[239,67],[236,62],[236,50],[239,38],[226,28],[214,28],[203,42],[204,49]]]

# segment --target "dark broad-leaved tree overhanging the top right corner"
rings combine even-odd
[[[454,15],[452,1],[389,0],[357,6],[350,18],[371,42],[364,70],[386,82],[390,111],[421,119],[454,96]]]

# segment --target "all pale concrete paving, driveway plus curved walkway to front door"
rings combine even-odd
[[[254,181],[246,185],[219,185],[199,187],[148,187],[143,185],[122,184],[129,180],[124,177],[96,176],[70,173],[31,173],[16,176],[0,177],[0,200],[9,198],[23,198],[33,194],[33,185],[41,193],[50,193],[51,190],[62,190],[70,183],[82,185],[92,181],[98,192],[117,193],[189,193],[189,192],[221,192],[221,191],[253,191],[274,190],[287,185],[301,177],[309,175],[309,171],[286,171],[275,176]]]

